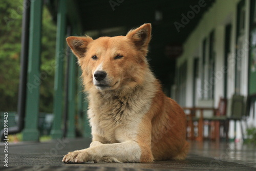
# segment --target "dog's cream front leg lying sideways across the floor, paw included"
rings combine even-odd
[[[99,144],[90,148],[68,153],[62,161],[65,163],[94,162],[140,162],[141,148],[136,141],[113,144]]]

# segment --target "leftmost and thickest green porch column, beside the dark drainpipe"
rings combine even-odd
[[[38,141],[42,0],[31,1],[24,141]]]

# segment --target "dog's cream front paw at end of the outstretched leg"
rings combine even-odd
[[[76,150],[74,152],[69,152],[63,157],[62,162],[64,163],[85,163],[91,161],[91,155],[84,150]]]

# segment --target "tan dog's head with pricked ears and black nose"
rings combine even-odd
[[[151,39],[151,24],[131,30],[126,36],[67,38],[82,69],[86,90],[132,88],[141,84],[148,68],[146,54]]]

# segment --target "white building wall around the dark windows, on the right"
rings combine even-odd
[[[237,5],[240,0],[216,0],[212,7],[202,16],[201,21],[195,30],[189,35],[184,46],[184,52],[177,60],[177,67],[179,67],[184,61],[187,61],[187,87],[186,87],[186,106],[193,105],[193,63],[194,57],[197,56],[202,62],[202,45],[203,40],[207,39],[206,59],[208,59],[208,41],[211,31],[215,31],[215,99],[214,106],[218,106],[220,97],[223,97],[224,93],[224,78],[223,78],[223,66],[224,66],[224,52],[225,52],[225,26],[231,24],[231,40],[230,40],[230,54],[228,58],[228,85],[227,85],[227,98],[230,99],[235,92],[235,57],[236,57],[236,29],[237,29]],[[248,47],[249,47],[249,0],[245,0],[245,34],[244,41],[244,57],[242,59],[242,86],[241,94],[247,96],[248,92]],[[199,56],[197,55],[199,54]],[[200,67],[202,67],[200,63]],[[202,69],[200,69],[202,71]],[[196,102],[197,104],[197,102]],[[228,114],[230,115],[230,114]],[[252,120],[252,119],[249,119]],[[240,123],[237,122],[237,139],[241,139]],[[230,138],[233,138],[234,122],[230,122]]]

